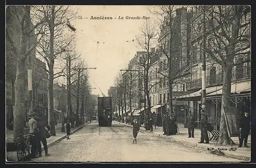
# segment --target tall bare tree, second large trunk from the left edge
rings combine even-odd
[[[41,28],[47,30],[48,34],[43,34],[38,40],[37,53],[46,60],[48,66],[48,123],[51,127],[50,134],[55,136],[54,109],[53,109],[53,80],[59,77],[60,73],[54,74],[54,62],[58,56],[71,49],[70,45],[74,41],[74,36],[65,34],[65,23],[75,18],[75,13],[69,6],[39,6],[37,17],[47,19],[47,23]],[[39,19],[39,18],[38,18]]]

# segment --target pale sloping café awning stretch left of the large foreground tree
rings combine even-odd
[[[216,90],[220,90],[222,89],[222,85],[221,86],[211,86],[211,87],[206,87],[206,94],[209,94],[209,93],[212,93],[212,92],[215,92]],[[185,95],[180,95],[179,97],[177,97],[176,99],[177,100],[191,100],[193,98],[198,98],[198,97],[201,97],[202,93],[202,89],[196,91],[196,92],[193,92],[193,93],[189,93],[189,94],[185,94]]]

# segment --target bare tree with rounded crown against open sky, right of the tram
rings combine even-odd
[[[137,39],[138,44],[144,50],[144,53],[142,54],[142,59],[138,60],[138,65],[143,67],[144,69],[144,89],[146,99],[147,99],[147,106],[148,106],[148,112],[147,114],[151,113],[151,101],[150,101],[150,90],[153,88],[154,84],[151,85],[149,81],[150,76],[150,67],[154,65],[154,62],[151,60],[155,56],[154,49],[152,50],[152,45],[154,44],[154,40],[156,40],[157,36],[157,29],[156,26],[149,20],[146,20],[144,23],[144,26],[141,28],[141,36]],[[156,42],[156,41],[155,41]],[[141,74],[141,71],[139,72]],[[144,100],[145,101],[145,100]],[[146,106],[146,101],[144,102],[144,107]],[[146,113],[146,110],[145,110]]]

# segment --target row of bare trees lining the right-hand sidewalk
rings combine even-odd
[[[174,84],[189,73],[189,69],[191,68],[191,55],[198,54],[190,51],[191,44],[188,41],[185,43],[182,42],[182,38],[188,40],[191,38],[190,30],[187,30],[186,33],[183,34],[183,37],[181,36],[184,30],[187,29],[187,25],[191,26],[191,22],[187,20],[187,17],[182,17],[182,15],[179,16],[176,6],[162,6],[159,9],[160,10],[151,12],[159,16],[164,16],[162,23],[164,23],[163,26],[165,26],[165,29],[162,27],[161,34],[159,34],[153,22],[146,20],[144,27],[141,29],[141,35],[137,38],[138,44],[145,52],[142,61],[138,61],[137,65],[142,67],[144,71],[143,90],[149,108],[147,112],[149,113],[151,112],[150,91],[154,86],[149,79],[152,75],[151,67],[155,65],[155,61],[153,61],[155,60],[155,57],[158,57],[159,62],[159,68],[156,72],[159,77],[158,83],[161,81],[159,80],[161,77],[167,78],[169,92],[168,108],[173,109],[172,91]],[[195,37],[199,37],[198,42],[203,44],[201,50],[202,55],[205,56],[207,54],[211,59],[211,62],[213,61],[214,64],[220,64],[223,69],[224,75],[219,145],[229,145],[230,140],[226,129],[224,108],[230,106],[232,67],[250,62],[251,27],[250,18],[246,19],[246,14],[250,13],[250,7],[194,6],[193,9],[194,11],[198,11],[197,13],[193,13],[194,15],[200,13],[199,18],[201,20],[199,21],[200,23],[198,23],[199,27],[196,29],[192,27],[191,29],[193,29],[193,33],[196,34]],[[207,30],[200,29],[200,25],[203,28],[207,27]],[[181,39],[177,37],[181,37]],[[206,38],[209,47],[206,47]],[[157,43],[158,50],[152,51],[151,49],[156,39],[159,39],[159,42]],[[237,57],[242,59],[237,59]],[[163,61],[163,58],[167,59],[167,63]],[[117,81],[124,80],[120,75],[117,79]],[[125,98],[124,95],[135,88],[124,87],[120,82],[117,82],[116,87],[119,94],[117,94],[115,99],[118,102],[117,105],[122,108],[122,100]],[[137,98],[135,97],[135,99]],[[123,102],[125,104],[125,101]]]

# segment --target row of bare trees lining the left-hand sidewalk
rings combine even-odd
[[[71,105],[71,94],[77,98],[76,123],[79,123],[78,112],[81,105],[80,121],[83,123],[84,103],[88,89],[88,74],[82,68],[86,67],[76,51],[75,28],[70,21],[76,19],[76,11],[70,6],[7,6],[6,9],[6,44],[7,53],[15,60],[16,78],[14,105],[14,138],[23,134],[25,123],[25,67],[28,58],[35,52],[46,62],[48,73],[48,124],[50,134],[55,136],[53,109],[53,82],[61,76],[67,76],[69,114],[74,127]],[[70,31],[68,31],[70,30]],[[63,61],[64,60],[64,61]],[[76,61],[74,61],[76,60]],[[61,62],[64,62],[61,64]],[[55,67],[55,66],[59,67]],[[66,68],[67,67],[67,68]],[[58,68],[62,70],[57,71]],[[80,68],[80,70],[78,70]],[[66,71],[64,70],[66,69]],[[73,89],[73,91],[72,91]],[[76,93],[74,93],[76,90]],[[63,123],[62,123],[63,124]],[[63,125],[62,125],[63,126]]]

